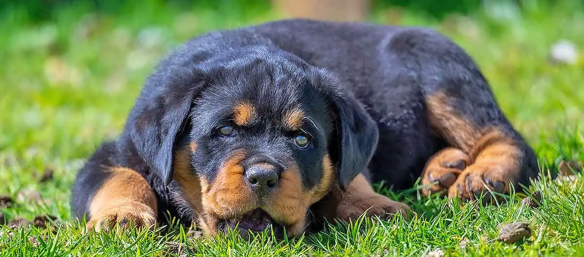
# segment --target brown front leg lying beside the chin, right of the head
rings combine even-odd
[[[359,174],[343,191],[334,186],[321,201],[314,205],[316,214],[327,220],[354,221],[363,213],[367,216],[390,218],[401,213],[408,217],[410,208],[405,203],[395,202],[373,190],[367,179]]]

